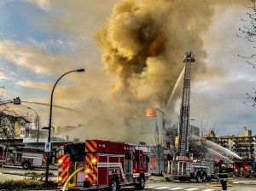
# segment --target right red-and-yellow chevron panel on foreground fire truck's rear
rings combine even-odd
[[[90,185],[96,185],[97,180],[97,166],[92,163],[92,159],[97,159],[96,153],[87,153],[86,154],[86,168],[85,171],[85,181],[90,182]]]

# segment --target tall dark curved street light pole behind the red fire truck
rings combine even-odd
[[[55,91],[55,86],[56,84],[58,84],[58,82],[60,81],[60,79],[62,77],[64,77],[65,75],[67,75],[67,73],[70,72],[84,72],[84,68],[79,69],[79,70],[72,70],[69,72],[64,73],[60,78],[58,78],[58,80],[55,82],[55,85],[51,91],[51,96],[50,96],[50,105],[49,105],[49,130],[48,130],[48,142],[50,142],[50,129],[51,129],[51,117],[52,117],[52,101],[53,101],[53,94]],[[49,152],[50,153],[50,152]],[[49,153],[47,154],[47,159],[46,159],[46,177],[45,177],[45,182],[48,182],[48,177],[49,177]]]

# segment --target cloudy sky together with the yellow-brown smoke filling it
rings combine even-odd
[[[55,87],[55,126],[84,124],[81,139],[125,140],[129,119],[155,107],[177,123],[183,55],[192,50],[190,119],[214,126],[217,136],[256,134],[256,69],[238,55],[253,43],[236,35],[248,25],[249,0],[0,0],[2,100],[20,97],[15,110],[49,124]],[[248,25],[249,26],[249,25]],[[176,88],[175,88],[176,87]],[[172,97],[171,97],[172,95]],[[118,138],[117,138],[118,137]]]

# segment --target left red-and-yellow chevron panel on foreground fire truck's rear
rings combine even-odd
[[[64,184],[68,178],[68,169],[70,163],[69,155],[61,155],[58,159],[60,161],[58,169],[58,184]]]

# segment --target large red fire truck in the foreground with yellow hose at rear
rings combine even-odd
[[[86,140],[81,144],[69,144],[59,157],[58,186],[69,189],[89,190],[108,188],[119,190],[133,185],[143,189],[148,180],[149,158],[135,145],[102,140]],[[82,154],[84,156],[82,156]],[[81,168],[83,170],[79,171]],[[84,168],[83,168],[84,167]],[[74,171],[78,173],[67,182]]]

